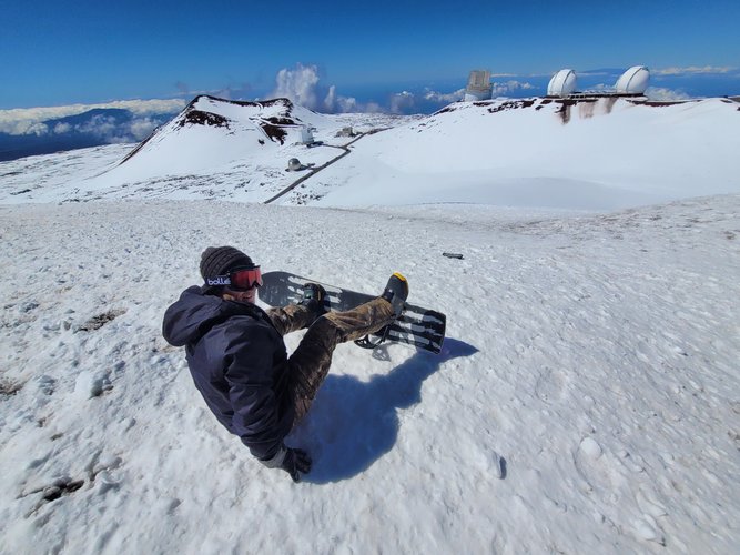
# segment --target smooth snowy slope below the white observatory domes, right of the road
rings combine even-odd
[[[318,176],[320,203],[628,208],[739,191],[739,150],[727,99],[457,103],[358,142]]]

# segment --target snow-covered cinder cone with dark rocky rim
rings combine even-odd
[[[321,119],[285,99],[236,103],[199,97],[120,165],[87,181],[83,190],[88,195],[105,196],[154,182],[158,190],[168,190],[175,198],[185,191],[186,198],[191,188],[219,189],[222,180],[214,174],[221,174],[234,182],[235,190],[242,189],[241,200],[259,201],[249,192],[262,193],[267,185],[264,178],[270,179],[268,191],[285,186],[293,176],[284,171],[287,160],[298,151],[305,154],[304,163],[324,163],[336,155],[328,149],[307,150],[296,144],[301,128]]]

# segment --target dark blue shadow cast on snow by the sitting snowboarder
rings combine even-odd
[[[478,350],[446,339],[442,353],[418,351],[388,374],[365,383],[348,375],[330,375],[305,422],[292,434],[293,443],[311,453],[314,464],[303,480],[326,484],[353,477],[389,452],[398,437],[398,408],[422,401],[422,383],[452,359]],[[385,346],[373,356],[386,356]]]

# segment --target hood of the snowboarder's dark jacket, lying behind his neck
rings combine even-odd
[[[236,314],[251,314],[254,309],[243,303],[226,302],[219,296],[204,294],[203,287],[193,285],[183,291],[164,313],[162,335],[174,346],[195,343],[211,327]]]

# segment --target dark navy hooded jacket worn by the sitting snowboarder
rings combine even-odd
[[[185,346],[195,386],[254,456],[272,458],[293,425],[285,394],[287,353],[262,309],[185,290],[164,313],[162,335]]]

